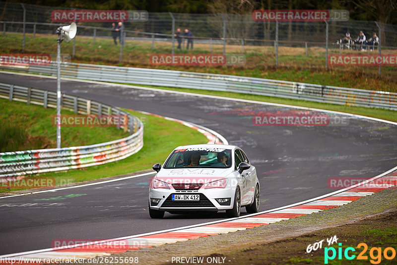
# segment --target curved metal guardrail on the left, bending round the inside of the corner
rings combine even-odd
[[[57,106],[56,92],[0,83],[0,97],[47,107]],[[92,100],[62,95],[63,108],[79,114],[125,115],[119,128],[130,136],[110,142],[66,148],[0,153],[0,181],[18,176],[100,165],[124,159],[143,146],[143,124],[131,114]]]

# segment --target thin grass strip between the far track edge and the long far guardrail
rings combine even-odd
[[[127,85],[131,85],[131,84],[127,84]],[[387,120],[387,121],[397,122],[397,111],[385,110],[385,109],[354,107],[354,106],[347,106],[347,105],[334,105],[334,104],[318,103],[318,102],[311,102],[311,101],[305,101],[305,100],[295,100],[295,99],[284,99],[284,98],[248,95],[248,94],[241,94],[241,93],[234,93],[234,92],[200,90],[200,89],[190,89],[190,88],[176,88],[176,87],[165,87],[165,86],[150,86],[150,85],[136,85],[136,86],[152,87],[152,88],[181,91],[181,92],[189,92],[189,93],[196,93],[196,94],[202,94],[202,95],[213,95],[213,96],[221,96],[221,97],[229,97],[229,98],[256,100],[256,101],[262,101],[262,102],[286,104],[286,105],[316,108],[316,109],[324,109],[324,110],[330,110],[330,111],[339,111],[339,112],[352,113],[352,114],[356,114],[356,115],[363,115],[363,116],[368,116],[368,117],[372,117],[372,118],[378,118],[378,119],[383,119],[383,120]]]

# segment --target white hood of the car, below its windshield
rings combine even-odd
[[[167,183],[208,183],[226,178],[233,168],[162,168],[155,178]]]

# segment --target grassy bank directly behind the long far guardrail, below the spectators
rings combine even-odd
[[[45,53],[55,55],[57,52],[56,35],[26,34],[24,53]],[[0,51],[6,53],[22,53],[22,34],[7,33],[2,37]],[[151,49],[150,41],[127,40],[123,47],[123,63],[119,64],[120,46],[113,40],[77,36],[76,54],[72,62],[99,65],[146,67],[169,70],[195,71],[206,73],[252,76],[295,82],[306,82],[322,85],[353,87],[371,90],[397,92],[397,70],[395,66],[383,66],[382,75],[378,77],[377,66],[329,66],[325,69],[325,49],[310,47],[308,56],[304,48],[279,47],[278,67],[275,67],[274,49],[270,46],[245,46],[244,55],[247,62],[244,66],[155,66],[150,64],[153,54],[170,54],[171,44],[156,42]],[[178,50],[175,53],[221,54],[222,45],[213,45],[212,51],[207,44],[195,44],[193,51]],[[346,53],[352,51],[346,51]],[[72,54],[72,42],[62,44],[63,54]],[[226,53],[241,54],[241,46],[227,45]],[[361,52],[354,52],[360,54]],[[383,54],[394,53],[383,49]],[[339,54],[338,49],[331,48],[329,54]],[[365,54],[365,53],[364,53]]]

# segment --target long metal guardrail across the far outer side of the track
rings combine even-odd
[[[48,66],[0,66],[0,69],[54,76],[57,74],[55,62]],[[397,110],[397,93],[393,92],[263,78],[74,63],[62,63],[61,75],[63,77],[86,80],[228,91],[338,105]]]

